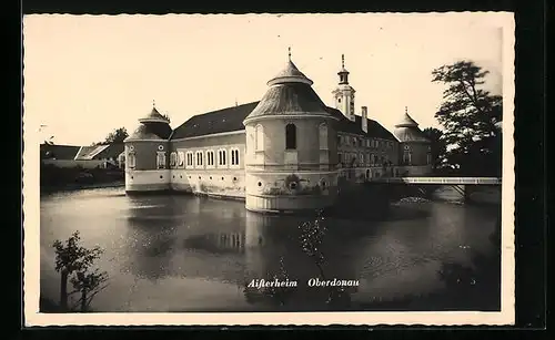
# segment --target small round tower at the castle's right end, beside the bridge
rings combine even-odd
[[[432,172],[431,143],[418,128],[418,123],[408,115],[407,107],[395,124],[393,134],[400,142],[400,158],[405,175],[428,175]]]

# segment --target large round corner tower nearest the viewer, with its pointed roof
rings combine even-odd
[[[317,209],[335,200],[336,117],[312,84],[290,50],[285,68],[268,82],[266,93],[243,121],[246,209]]]

